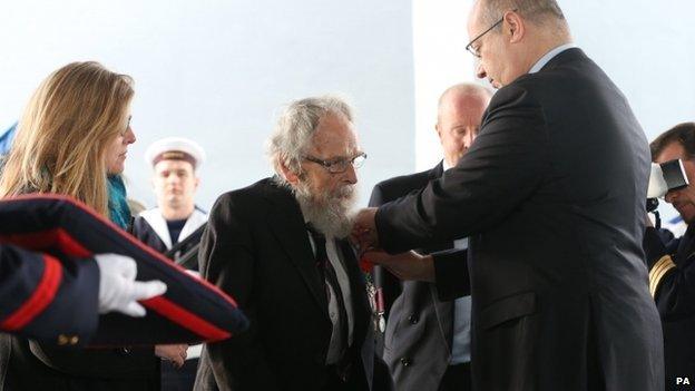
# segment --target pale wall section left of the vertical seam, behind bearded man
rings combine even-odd
[[[129,195],[154,206],[147,145],[206,150],[198,204],[271,174],[264,143],[282,105],[341,92],[369,159],[362,198],[414,167],[410,3],[401,0],[0,0],[0,127],[49,72],[94,59],[135,78]],[[57,140],[59,141],[59,140]]]

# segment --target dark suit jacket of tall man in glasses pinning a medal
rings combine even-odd
[[[392,253],[469,237],[468,270],[438,278],[470,272],[473,389],[664,389],[649,160],[623,94],[574,48],[495,95],[456,167],[379,209]]]

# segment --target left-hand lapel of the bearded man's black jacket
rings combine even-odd
[[[300,272],[306,287],[314,296],[316,305],[329,317],[324,282],[316,270],[314,252],[309,242],[309,234],[304,226],[304,217],[300,206],[288,190],[276,186],[274,186],[273,196],[270,199],[273,202],[275,211],[267,215],[268,225]]]

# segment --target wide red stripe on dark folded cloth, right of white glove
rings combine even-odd
[[[188,329],[194,334],[203,336],[207,342],[226,340],[232,336],[232,333],[215,326],[198,315],[167,300],[165,296],[143,300],[140,303],[155,310],[159,315],[174,321],[179,326]]]

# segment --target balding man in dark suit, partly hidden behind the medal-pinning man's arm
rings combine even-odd
[[[490,96],[487,89],[473,84],[448,88],[439,99],[434,126],[444,159],[425,172],[376,184],[370,206],[381,206],[420,189],[456,166],[478,134]],[[447,256],[464,262],[461,257],[466,257],[466,247],[467,240],[460,238],[430,245],[423,252],[458,248]],[[383,292],[388,319],[383,359],[395,390],[470,390],[470,296],[440,301],[434,284],[401,283],[381,266],[375,266],[374,275]]]

